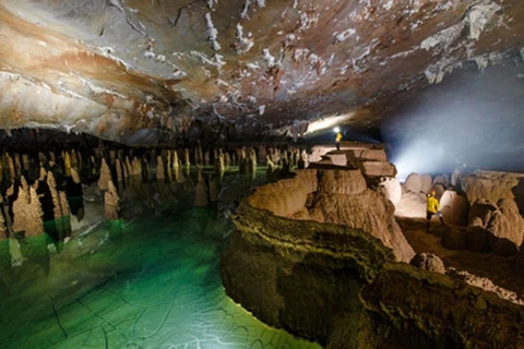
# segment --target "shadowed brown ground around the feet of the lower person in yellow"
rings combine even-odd
[[[524,276],[516,272],[515,257],[444,249],[440,243],[442,233],[452,227],[441,225],[437,217],[431,220],[430,232],[426,232],[425,218],[396,217],[396,220],[415,252],[433,253],[444,262],[446,268],[454,267],[488,278],[524,300]]]

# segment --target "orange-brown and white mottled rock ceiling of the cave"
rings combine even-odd
[[[524,1],[0,0],[0,37],[2,129],[290,134],[378,125],[454,70],[522,67]]]

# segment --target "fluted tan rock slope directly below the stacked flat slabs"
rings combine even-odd
[[[394,210],[388,198],[367,189],[358,195],[318,192],[309,212],[313,220],[361,229],[379,238],[397,261],[408,263],[415,252],[395,221]]]

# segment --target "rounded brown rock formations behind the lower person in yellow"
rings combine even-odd
[[[443,220],[453,227],[444,233],[444,248],[503,256],[523,253],[523,173],[464,169],[434,178],[412,173],[403,190],[421,200],[430,190],[436,192]]]

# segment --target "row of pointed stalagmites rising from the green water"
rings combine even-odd
[[[141,197],[153,207],[171,198],[180,184],[194,189],[194,206],[205,207],[218,201],[219,184],[229,168],[238,167],[240,174],[254,177],[258,159],[263,159],[262,164],[267,159],[267,176],[273,180],[299,166],[299,157],[296,148],[230,146],[204,152],[201,146],[123,148],[104,142],[82,151],[4,153],[0,161],[0,182],[4,183],[0,198],[5,207],[0,215],[0,236],[41,234],[44,221],[49,219],[68,225],[68,220],[59,219],[76,215],[76,209],[71,213],[70,196],[82,195],[82,182],[96,182],[104,202],[104,217],[115,220],[121,216],[121,200]],[[192,165],[198,170],[194,185],[190,176]],[[68,192],[71,188],[75,193]],[[81,215],[82,212],[79,220]]]

